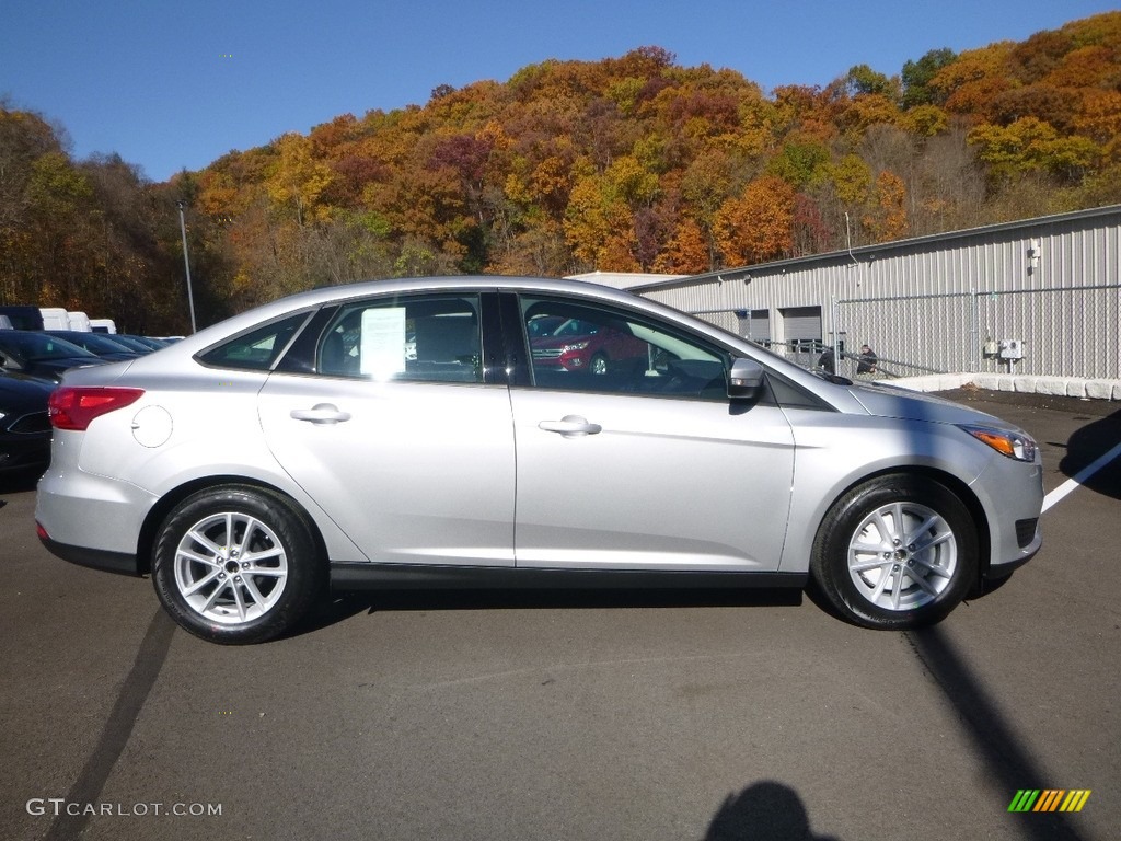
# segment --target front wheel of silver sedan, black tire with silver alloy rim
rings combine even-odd
[[[828,606],[855,625],[919,628],[945,618],[970,592],[979,545],[972,516],[945,486],[880,477],[830,509],[810,574]]]

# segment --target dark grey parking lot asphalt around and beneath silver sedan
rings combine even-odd
[[[1115,838],[1121,460],[1085,469],[1121,407],[947,396],[1036,436],[1049,507],[920,632],[770,592],[378,593],[224,648],[0,489],[0,838]]]

